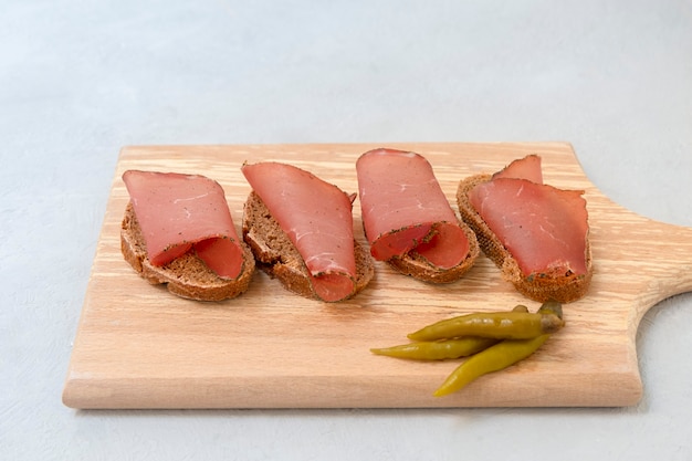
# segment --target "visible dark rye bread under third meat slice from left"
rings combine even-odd
[[[462,221],[459,226],[464,231],[469,240],[469,254],[466,258],[450,269],[441,269],[433,265],[426,258],[421,256],[416,250],[406,253],[402,256],[395,256],[387,260],[387,263],[405,275],[429,283],[451,283],[463,276],[478,259],[481,250],[473,231]]]

